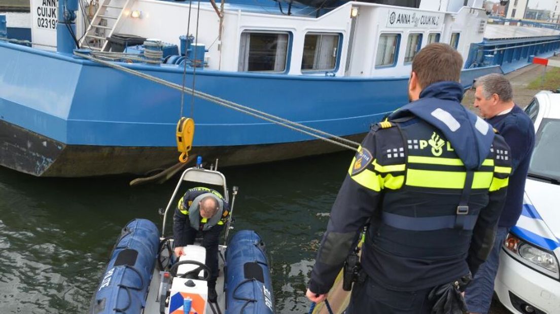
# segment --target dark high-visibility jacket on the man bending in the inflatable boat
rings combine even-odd
[[[218,210],[211,218],[200,216],[199,202],[206,196],[211,196],[218,203]],[[229,217],[230,207],[222,194],[205,187],[189,189],[179,199],[175,215],[173,216],[173,236],[175,246],[187,245],[187,229],[208,231],[213,226],[224,225]]]

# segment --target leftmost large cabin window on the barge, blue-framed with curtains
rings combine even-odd
[[[284,72],[287,54],[287,33],[242,32],[238,70]]]

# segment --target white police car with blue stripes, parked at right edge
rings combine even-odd
[[[523,212],[502,246],[494,290],[514,313],[560,313],[560,94],[540,92],[525,109],[536,143]]]

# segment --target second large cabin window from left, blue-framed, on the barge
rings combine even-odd
[[[337,65],[339,34],[305,35],[302,70],[334,70]]]

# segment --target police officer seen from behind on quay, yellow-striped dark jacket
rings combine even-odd
[[[511,154],[461,106],[462,66],[446,44],[415,56],[410,103],[371,127],[348,169],[311,272],[311,301],[326,298],[367,226],[347,313],[466,310],[461,291],[492,249]]]

